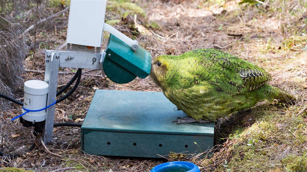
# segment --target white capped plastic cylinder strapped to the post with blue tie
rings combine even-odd
[[[23,107],[29,110],[38,110],[46,107],[49,85],[47,82],[39,80],[29,80],[24,85]],[[25,110],[22,109],[24,113]],[[30,122],[41,122],[46,119],[46,110],[39,112],[28,112],[22,116],[23,119]]]

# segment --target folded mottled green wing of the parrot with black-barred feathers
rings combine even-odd
[[[223,51],[196,49],[194,53],[201,54],[201,63],[210,71],[213,84],[231,94],[254,90],[272,79],[264,69]]]

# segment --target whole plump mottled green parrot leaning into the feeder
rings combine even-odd
[[[217,49],[195,49],[179,56],[160,55],[150,76],[164,95],[189,117],[178,124],[216,121],[273,99],[293,101],[284,90],[266,84],[264,69]]]

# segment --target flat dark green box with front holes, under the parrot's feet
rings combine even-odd
[[[197,154],[212,148],[214,123],[172,123],[187,116],[174,107],[162,92],[96,90],[81,127],[81,149],[161,158],[170,151]]]

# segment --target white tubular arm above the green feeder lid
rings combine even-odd
[[[112,35],[119,38],[122,42],[128,44],[133,50],[138,49],[138,41],[132,40],[128,36],[124,35],[122,32],[116,30],[114,27],[110,26],[109,24],[103,24],[103,31],[110,32]]]

